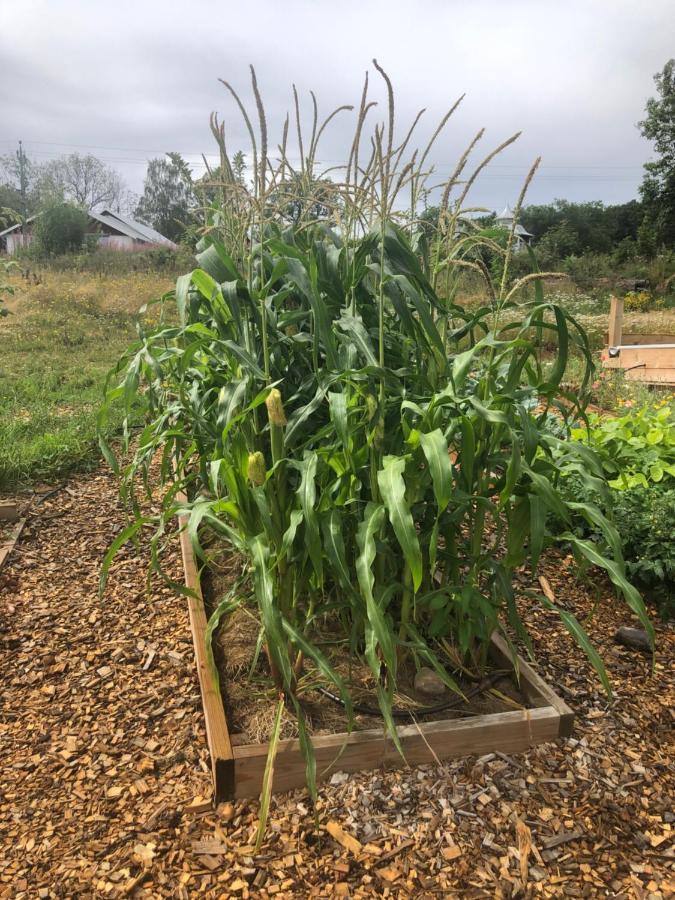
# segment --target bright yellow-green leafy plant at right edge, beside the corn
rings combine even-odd
[[[675,416],[669,405],[632,409],[620,418],[591,414],[571,436],[602,460],[610,487],[629,490],[675,480]]]

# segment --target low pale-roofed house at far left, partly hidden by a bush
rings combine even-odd
[[[36,218],[37,216],[31,216],[26,219],[23,226],[12,225],[11,228],[0,231],[0,250],[6,250],[11,255],[21,247],[30,246]],[[176,249],[173,241],[165,238],[154,228],[110,209],[90,211],[86,233],[94,235],[99,246],[111,250],[145,250],[149,247]]]

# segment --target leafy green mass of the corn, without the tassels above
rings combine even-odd
[[[262,542],[274,605],[260,600],[261,610],[281,688],[292,690],[283,672],[298,652],[280,637],[284,623],[311,635],[342,593],[351,597],[340,613],[347,634],[375,677],[385,661],[389,690],[400,653],[423,659],[440,638],[479,663],[501,616],[516,615],[514,568],[570,539],[547,530],[547,513],[571,518],[555,482],[592,457],[561,449],[530,409],[538,397],[565,409],[566,347],[583,347],[583,334],[559,307],[533,302],[512,337],[498,339],[494,310],[444,304],[391,225],[384,244],[371,233],[349,246],[325,230],[271,228],[252,260],[253,289],[217,243],[202,262],[210,273],[197,269],[177,285],[183,324],[146,335],[110,394],[147,421],[127,490],[161,449],[179,482],[199,489],[195,522],[244,553]],[[380,264],[391,273],[381,332],[371,277]],[[457,324],[444,341],[448,318]],[[547,374],[528,337],[537,323],[558,336],[559,362]],[[474,345],[463,349],[467,327]],[[283,390],[276,421],[271,384]],[[251,474],[260,453],[263,484]],[[163,519],[174,513],[169,500]],[[618,586],[635,601],[620,574]]]

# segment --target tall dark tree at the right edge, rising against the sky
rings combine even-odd
[[[645,230],[653,235],[653,245],[671,248],[675,246],[675,59],[668,60],[654,81],[657,96],[647,101],[647,115],[639,128],[653,142],[657,159],[645,163],[640,193]]]

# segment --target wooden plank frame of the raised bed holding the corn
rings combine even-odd
[[[185,521],[181,523],[185,525]],[[254,798],[260,793],[267,743],[234,744],[225,709],[215,686],[206,655],[206,612],[199,572],[187,532],[180,533],[188,598],[190,627],[206,720],[216,803]],[[497,668],[512,669],[505,641],[492,636],[491,659]],[[320,734],[313,737],[317,780],[335,771],[355,772],[379,766],[422,765],[458,756],[493,751],[513,753],[537,744],[567,737],[574,713],[523,659],[518,657],[519,684],[529,708],[489,713],[466,719],[444,719],[398,726],[405,761],[382,728],[351,734]],[[305,784],[305,761],[299,741],[282,740],[274,764],[274,790],[287,791]]]

